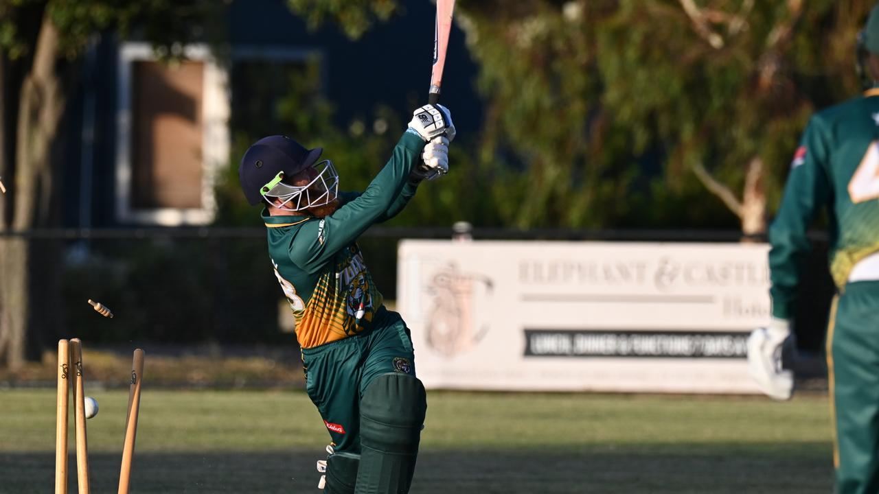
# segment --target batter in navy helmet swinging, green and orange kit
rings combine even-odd
[[[244,153],[244,195],[265,205],[274,275],[296,324],[306,390],[330,432],[320,487],[336,493],[408,492],[427,410],[410,331],[382,305],[356,240],[399,213],[423,178],[448,171],[448,110],[415,111],[363,193],[338,193],[322,149],[274,135]]]

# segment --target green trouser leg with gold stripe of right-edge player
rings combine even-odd
[[[879,281],[846,286],[828,330],[837,492],[879,492]]]

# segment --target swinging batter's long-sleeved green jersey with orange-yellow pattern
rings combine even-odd
[[[384,168],[363,193],[340,193],[342,206],[321,219],[271,216],[263,210],[269,256],[296,321],[296,338],[313,348],[371,327],[382,309],[355,243],[371,225],[399,213],[415,195],[409,173],[425,142],[406,133]]]

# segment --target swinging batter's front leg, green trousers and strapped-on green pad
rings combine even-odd
[[[425,422],[425,387],[415,376],[412,344],[396,313],[370,335],[360,397],[357,494],[409,492]]]

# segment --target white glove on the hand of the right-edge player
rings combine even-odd
[[[781,347],[788,338],[793,343],[790,323],[776,318],[748,337],[748,371],[760,391],[776,400],[789,400],[794,394],[794,373],[781,368]]]

